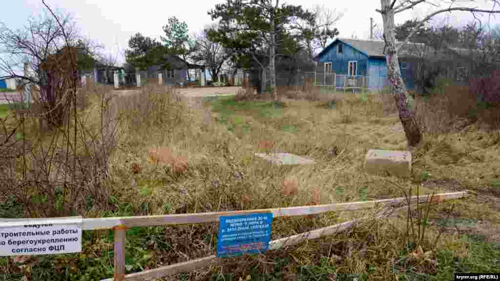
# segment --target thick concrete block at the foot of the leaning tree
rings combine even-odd
[[[364,169],[371,174],[409,177],[411,175],[411,152],[370,149],[366,153]]]

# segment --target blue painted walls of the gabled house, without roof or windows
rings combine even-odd
[[[339,44],[342,44],[342,53],[338,52]],[[336,74],[341,75],[348,74],[348,63],[351,60],[357,60],[357,75],[370,76],[370,87],[381,89],[382,87],[388,85],[387,64],[385,63],[384,57],[368,57],[361,51],[339,40],[333,41],[319,56],[320,63],[331,62],[331,70]],[[414,88],[413,68],[413,65],[409,62],[399,62],[401,76],[408,89]],[[336,86],[342,86],[343,79],[336,79],[335,84]]]

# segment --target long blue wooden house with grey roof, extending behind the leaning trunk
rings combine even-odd
[[[396,42],[396,45],[400,42]],[[335,73],[336,87],[342,87],[345,76],[364,78],[371,89],[381,89],[388,85],[387,64],[383,40],[363,40],[337,38],[318,53],[316,73]],[[466,84],[470,76],[500,69],[500,61],[481,63],[481,53],[477,50],[440,46],[433,48],[422,43],[407,43],[398,51],[399,68],[406,88],[423,92],[436,79],[443,77]],[[326,75],[324,76],[326,78]],[[326,79],[325,79],[326,81]]]

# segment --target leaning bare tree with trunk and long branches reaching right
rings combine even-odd
[[[477,1],[469,0],[468,3]],[[498,13],[498,0],[490,0],[491,9],[479,9],[475,7],[463,6],[464,1],[451,0],[380,0],[380,9],[376,11],[382,15],[383,20],[383,39],[385,41],[384,54],[387,62],[387,78],[391,85],[391,92],[396,101],[396,106],[399,111],[399,119],[404,128],[406,140],[409,146],[416,146],[422,139],[420,128],[415,120],[415,113],[412,108],[411,98],[406,91],[406,85],[401,77],[398,61],[398,51],[411,39],[418,31],[419,27],[431,19],[433,16],[452,11],[468,11],[473,15],[475,13]],[[431,4],[436,7],[436,10],[426,15],[416,24],[415,28],[406,36],[402,43],[396,45],[394,32],[394,15],[424,3]],[[446,5],[444,7],[444,5]]]

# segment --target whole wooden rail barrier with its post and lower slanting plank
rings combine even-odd
[[[417,201],[440,202],[450,199],[463,198],[467,191],[440,193],[435,195],[411,196],[410,204]],[[105,280],[147,280],[160,278],[166,275],[172,275],[180,272],[194,270],[211,264],[216,259],[215,255],[189,260],[186,262],[171,264],[155,269],[145,270],[137,273],[125,275],[125,235],[128,227],[134,226],[154,226],[154,225],[174,225],[174,224],[192,224],[201,222],[216,222],[220,216],[238,215],[238,214],[253,214],[253,213],[268,213],[272,212],[273,217],[280,216],[297,216],[318,214],[327,211],[344,211],[344,210],[360,210],[376,207],[401,207],[407,202],[406,197],[380,199],[361,202],[333,203],[314,206],[297,206],[286,208],[269,208],[256,210],[238,210],[238,211],[221,211],[221,212],[202,212],[202,213],[183,213],[183,214],[168,214],[168,215],[150,215],[150,216],[124,216],[124,217],[101,217],[101,218],[33,218],[33,219],[2,219],[0,218],[0,227],[21,226],[26,223],[43,223],[43,224],[71,224],[81,223],[82,230],[106,229],[114,230],[114,278]],[[377,216],[375,216],[376,218]],[[378,216],[379,217],[379,216]],[[279,249],[285,245],[297,244],[308,239],[315,239],[333,233],[343,231],[355,225],[359,220],[351,220],[342,222],[332,226],[327,226],[305,233],[280,238],[269,242],[269,249]]]

